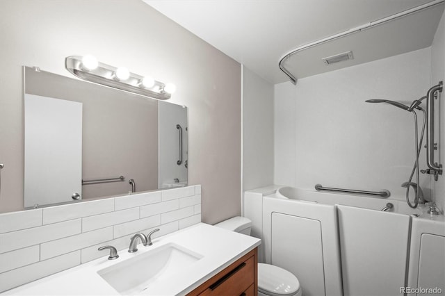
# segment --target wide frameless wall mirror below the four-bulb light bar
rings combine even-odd
[[[187,184],[185,106],[31,67],[24,74],[25,207]]]

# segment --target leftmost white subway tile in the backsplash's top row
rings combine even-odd
[[[38,227],[42,225],[42,209],[0,215],[0,233]]]

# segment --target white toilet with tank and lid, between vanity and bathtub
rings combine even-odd
[[[252,221],[246,217],[233,217],[215,226],[250,236]],[[258,263],[258,295],[301,296],[302,293],[300,282],[291,272],[274,265]]]

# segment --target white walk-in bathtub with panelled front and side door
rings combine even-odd
[[[381,211],[388,202],[394,208]],[[432,285],[416,266],[421,239],[435,233],[423,236],[428,252],[445,242],[443,215],[381,197],[269,186],[245,192],[244,215],[263,240],[263,261],[296,274],[303,295],[403,295],[403,287]],[[439,278],[444,262],[434,267]]]

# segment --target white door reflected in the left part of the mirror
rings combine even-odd
[[[82,104],[25,94],[24,206],[81,197]]]

